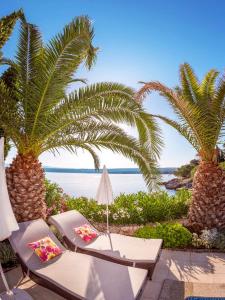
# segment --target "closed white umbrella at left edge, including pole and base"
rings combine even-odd
[[[8,189],[6,185],[5,168],[4,168],[4,138],[0,139],[0,241],[10,237],[13,231],[18,230],[18,224],[13,214],[9,201]],[[10,290],[6,281],[2,265],[0,262],[0,273],[6,292],[0,294],[0,299],[32,299],[25,291],[20,289]]]

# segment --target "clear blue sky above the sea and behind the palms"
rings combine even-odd
[[[139,88],[138,81],[159,80],[174,87],[178,68],[190,63],[199,78],[210,68],[223,72],[225,65],[225,1],[152,0],[1,0],[1,16],[23,8],[27,19],[38,25],[45,41],[59,32],[73,17],[88,15],[94,24],[94,44],[100,47],[95,67],[79,76],[89,83],[117,81]],[[13,56],[18,32],[4,48]],[[164,99],[153,94],[145,102],[151,113],[173,116]],[[173,129],[160,123],[165,147],[160,165],[179,166],[195,151]],[[133,132],[131,132],[133,133]],[[12,151],[9,160],[15,155]],[[101,154],[108,167],[132,167],[133,163],[111,152]],[[89,155],[79,157],[61,151],[60,157],[43,154],[45,165],[92,167]]]

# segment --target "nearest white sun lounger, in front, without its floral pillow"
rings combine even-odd
[[[43,263],[27,244],[46,236],[51,237],[63,253]],[[36,283],[66,299],[139,299],[147,279],[146,270],[66,250],[41,219],[20,223],[10,243],[23,271]]]

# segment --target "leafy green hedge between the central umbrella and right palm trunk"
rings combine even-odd
[[[179,190],[175,196],[169,196],[163,191],[152,194],[122,194],[115,199],[112,207],[115,210],[112,221],[145,224],[181,218],[187,214],[190,196],[190,192],[184,189]]]

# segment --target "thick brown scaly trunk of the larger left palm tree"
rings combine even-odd
[[[44,170],[31,154],[18,154],[6,169],[9,197],[18,222],[46,218]]]

